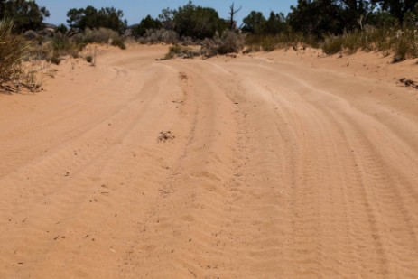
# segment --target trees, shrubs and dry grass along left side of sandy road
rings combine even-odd
[[[39,69],[26,67],[26,62],[45,60],[58,65],[66,57],[79,58],[80,51],[89,43],[126,48],[123,35],[126,22],[122,20],[122,11],[113,7],[70,9],[68,25],[44,23],[49,16],[49,11],[35,1],[0,1],[0,87],[3,91],[15,92],[21,88],[36,91],[41,87],[36,79]]]

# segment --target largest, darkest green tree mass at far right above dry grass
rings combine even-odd
[[[298,0],[288,22],[293,31],[323,36],[361,29],[365,24],[402,26],[406,17],[415,24],[417,12],[418,0]]]

